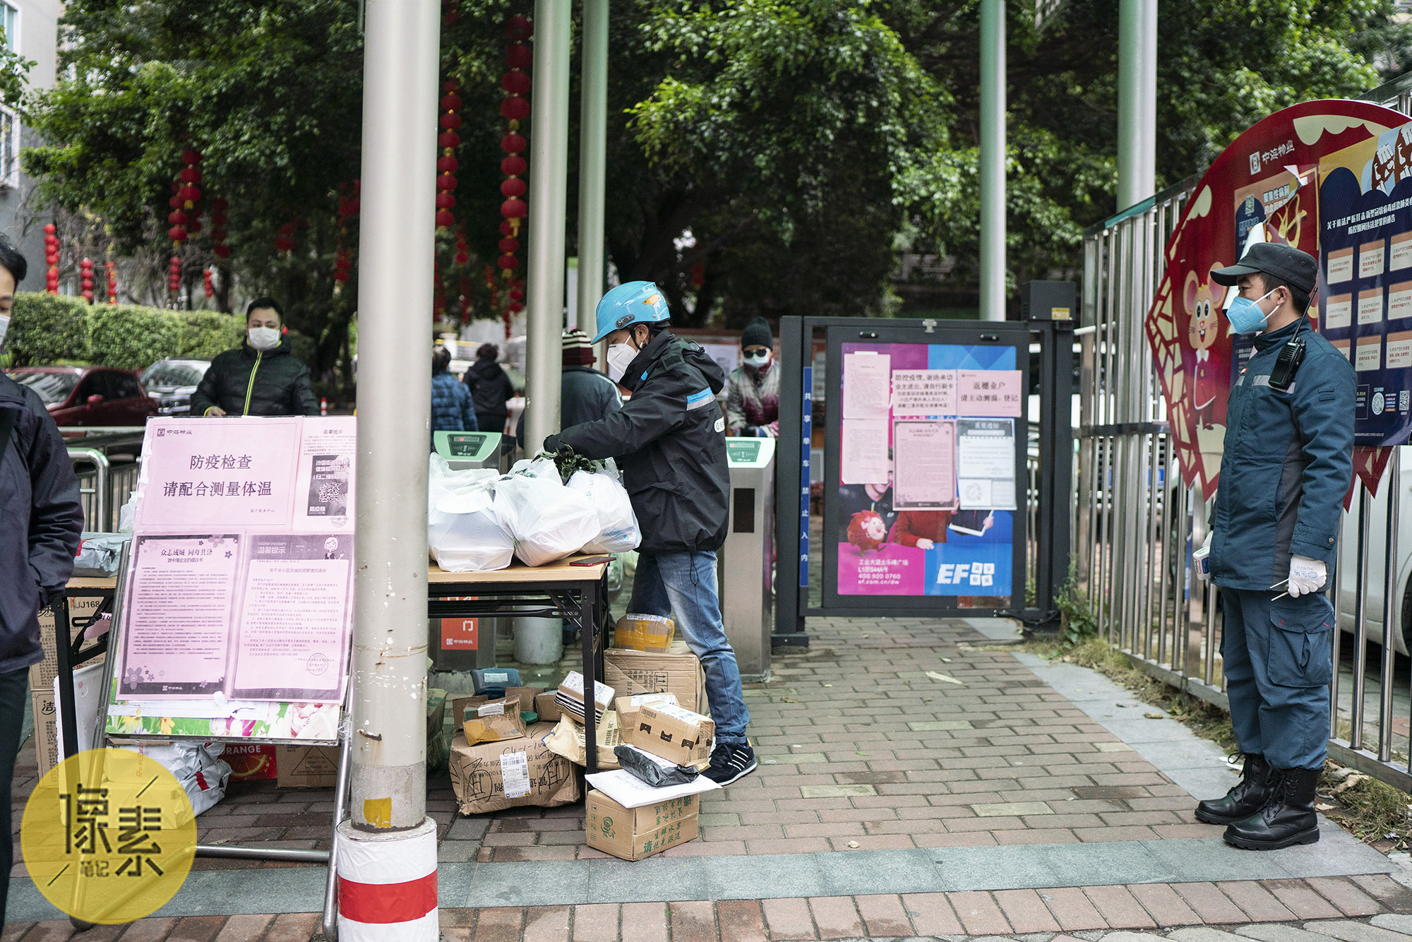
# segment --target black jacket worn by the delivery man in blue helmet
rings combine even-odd
[[[716,394],[726,374],[696,343],[666,330],[623,376],[620,412],[551,435],[587,458],[616,458],[647,552],[719,549],[726,542],[730,470]]]

